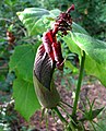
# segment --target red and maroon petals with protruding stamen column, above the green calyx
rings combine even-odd
[[[56,34],[60,31],[62,35],[67,35],[67,31],[71,31],[72,19],[70,11],[73,9],[74,7],[72,5],[67,12],[60,13],[54,28],[43,34],[43,44],[37,49],[34,74],[49,90],[55,68],[57,67],[59,70],[63,69],[61,44],[57,41]]]

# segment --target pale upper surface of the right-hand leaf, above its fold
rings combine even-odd
[[[85,34],[72,34],[73,41],[99,64],[106,66],[106,43]]]

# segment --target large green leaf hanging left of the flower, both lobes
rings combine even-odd
[[[33,86],[33,66],[38,45],[17,46],[9,63],[10,71],[14,71],[17,78],[13,83],[15,109],[26,120],[39,108]]]

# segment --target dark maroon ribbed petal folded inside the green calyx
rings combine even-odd
[[[52,61],[52,59],[45,51],[44,45],[40,45],[37,49],[35,58],[34,74],[37,76],[38,81],[48,90],[50,90],[55,67],[55,61]]]

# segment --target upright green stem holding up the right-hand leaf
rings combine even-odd
[[[78,106],[81,83],[82,83],[82,78],[83,78],[84,60],[85,60],[85,52],[83,51],[83,56],[81,59],[80,74],[79,74],[79,80],[78,80],[78,85],[76,85],[76,92],[75,92],[75,99],[74,99],[74,104],[73,104],[72,117],[74,117],[76,114],[76,106]]]

